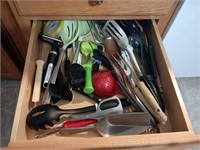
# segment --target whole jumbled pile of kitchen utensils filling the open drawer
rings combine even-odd
[[[40,81],[42,104],[31,109],[26,119],[27,126],[37,131],[36,138],[91,130],[104,137],[159,132],[157,125],[164,125],[167,116],[153,47],[140,23],[44,23],[38,38],[54,51],[49,52]],[[55,48],[58,57],[53,55]],[[69,101],[80,99],[75,91],[86,96],[91,105],[61,109],[58,102],[69,105]]]

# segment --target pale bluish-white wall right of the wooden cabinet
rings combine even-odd
[[[200,0],[185,0],[164,38],[176,77],[200,77]]]

